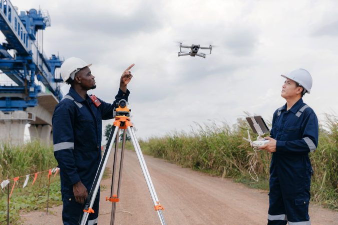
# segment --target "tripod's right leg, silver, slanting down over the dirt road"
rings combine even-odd
[[[146,162],[144,160],[144,157],[143,157],[143,154],[142,154],[142,151],[141,151],[140,144],[137,141],[137,138],[136,138],[136,135],[135,135],[133,127],[128,126],[127,128],[128,128],[129,133],[130,133],[130,137],[132,139],[132,142],[133,142],[133,145],[134,145],[134,148],[135,148],[135,152],[136,152],[137,158],[138,158],[138,160],[140,162],[140,166],[141,166],[141,169],[142,169],[142,172],[143,172],[143,176],[144,176],[144,178],[146,180],[146,183],[147,183],[147,186],[148,186],[151,198],[153,200],[154,207],[155,207],[155,209],[157,211],[157,214],[158,214],[158,216],[159,216],[159,218],[161,220],[161,224],[165,225],[166,223],[165,223],[165,220],[164,220],[164,216],[162,214],[163,207],[159,203],[159,200],[158,200],[158,197],[157,197],[157,194],[156,194],[153,182],[151,180],[151,177],[150,177],[150,174],[149,174],[149,171],[148,171],[148,167],[146,165]]]

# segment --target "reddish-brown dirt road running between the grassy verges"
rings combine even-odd
[[[230,179],[213,177],[159,158],[145,155],[167,224],[266,224],[266,191],[250,189]],[[109,166],[112,167],[110,160]],[[110,224],[111,179],[102,184],[99,224]],[[160,224],[134,151],[125,152],[120,202],[115,224]],[[62,224],[62,206],[51,209],[54,215],[30,212],[22,215],[25,224]],[[311,224],[338,224],[338,213],[310,204]]]

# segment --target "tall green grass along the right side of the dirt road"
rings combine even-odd
[[[140,141],[142,150],[192,169],[213,175],[233,177],[255,188],[268,189],[271,154],[258,152],[254,167],[259,182],[249,176],[249,161],[254,154],[250,145],[242,140],[247,136],[248,125],[243,118],[230,127],[214,123],[198,125],[197,131],[175,133],[164,137],[153,137]],[[319,144],[310,159],[314,174],[311,180],[312,200],[331,209],[338,209],[338,118],[326,117],[319,130]],[[251,137],[255,135],[250,133]]]

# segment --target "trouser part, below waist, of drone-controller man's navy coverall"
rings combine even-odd
[[[310,179],[308,155],[272,155],[267,224],[310,223]]]

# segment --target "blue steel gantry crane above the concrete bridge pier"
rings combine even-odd
[[[55,54],[45,57],[37,41],[38,30],[50,25],[48,12],[30,9],[19,15],[10,0],[0,0],[0,30],[7,41],[0,43],[0,70],[13,80],[11,85],[0,85],[0,114],[38,106],[42,92],[38,81],[56,101],[62,98],[62,79],[55,72],[62,60]]]

